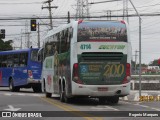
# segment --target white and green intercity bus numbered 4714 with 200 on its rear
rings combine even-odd
[[[130,93],[131,42],[125,21],[72,21],[50,30],[44,42],[46,97],[98,98],[118,103]]]

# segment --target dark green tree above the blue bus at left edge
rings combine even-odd
[[[0,39],[0,51],[13,50],[13,40],[3,41]]]

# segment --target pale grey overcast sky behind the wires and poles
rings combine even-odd
[[[48,16],[47,9],[41,9],[45,0],[0,0],[0,19],[13,17],[43,17]],[[88,0],[90,2],[100,2],[107,0]],[[160,13],[159,0],[132,0],[140,14],[142,13]],[[67,11],[71,15],[76,13],[76,0],[54,0],[52,6],[58,6],[58,9],[52,9],[53,17],[66,16]],[[122,15],[123,1],[94,4],[89,6],[91,15],[106,15],[108,10],[112,10],[112,15]],[[135,14],[133,7],[128,2],[129,14]],[[107,18],[106,18],[107,19]],[[122,18],[112,18],[121,20]],[[25,33],[26,24],[29,20],[0,20],[0,29],[6,29],[6,39],[14,40],[14,46],[20,46],[21,32]],[[48,20],[38,20],[40,24],[49,23]],[[53,20],[54,26],[65,23],[66,20]],[[132,54],[139,50],[139,19],[138,17],[129,18],[129,27],[132,42]],[[47,32],[49,26],[40,25],[41,38]],[[28,27],[28,30],[30,28]],[[26,47],[25,35],[22,36],[23,47]],[[32,32],[30,40],[33,46],[37,46],[37,33]],[[41,40],[41,42],[43,39]],[[160,16],[142,17],[142,63],[150,63],[154,59],[160,58]],[[133,60],[135,57],[133,56]],[[137,59],[138,61],[138,59]]]

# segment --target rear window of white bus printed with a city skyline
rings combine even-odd
[[[78,26],[78,42],[81,41],[122,41],[127,42],[126,25],[119,21],[82,22]]]

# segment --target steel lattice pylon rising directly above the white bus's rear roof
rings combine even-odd
[[[88,0],[77,0],[76,19],[89,17],[89,3]],[[89,18],[88,18],[89,19]]]

